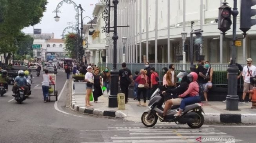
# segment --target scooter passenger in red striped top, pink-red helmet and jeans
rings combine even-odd
[[[197,83],[198,75],[196,72],[190,72],[189,75],[187,75],[187,78],[189,80],[189,88],[183,93],[179,95],[179,98],[182,98],[186,95],[189,95],[189,97],[182,99],[182,102],[180,103],[180,109],[178,113],[174,115],[174,117],[181,116],[182,111],[185,109],[186,105],[194,104],[196,102],[201,101],[199,96],[199,85]]]

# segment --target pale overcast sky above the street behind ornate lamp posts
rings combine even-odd
[[[56,22],[54,20],[54,16],[56,16],[56,13],[53,13],[53,11],[56,9],[59,2],[62,0],[47,0],[47,10],[44,12],[44,17],[42,18],[41,22],[37,25],[34,25],[35,29],[41,29],[41,33],[54,33],[54,38],[59,39],[62,36],[62,32],[64,28],[68,25],[67,22],[73,22],[73,26],[76,23],[75,15],[76,11],[74,10],[73,4],[64,4],[62,7],[60,7],[61,13],[58,13],[58,16],[60,16],[60,21]],[[89,16],[93,19],[92,13],[93,9],[96,3],[98,3],[100,0],[72,0],[76,3],[76,5],[81,4],[83,9],[85,10],[83,12],[83,17]],[[93,5],[92,5],[93,4]],[[80,14],[80,12],[79,12]],[[84,23],[87,23],[90,19],[85,18]],[[80,22],[80,16],[79,16],[79,22]],[[22,30],[25,33],[33,33],[33,26],[24,28]],[[70,31],[70,30],[68,30]],[[65,33],[67,34],[67,33]]]

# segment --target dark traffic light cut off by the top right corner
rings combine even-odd
[[[256,5],[256,0],[241,0],[240,30],[246,33],[256,24],[256,19],[251,19],[256,14],[256,9],[251,7]]]

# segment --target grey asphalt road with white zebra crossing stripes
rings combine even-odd
[[[203,125],[191,129],[187,125],[156,124],[147,128],[142,123],[82,115],[64,107],[67,88],[63,70],[56,78],[58,92],[63,89],[58,102],[54,98],[43,102],[42,73],[39,77],[35,74],[32,95],[23,104],[12,100],[11,85],[9,92],[0,97],[0,143],[220,143],[220,139],[227,138],[255,143],[256,126]]]

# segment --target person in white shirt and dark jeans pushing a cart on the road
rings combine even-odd
[[[48,74],[48,70],[45,69],[43,74],[42,90],[44,95],[44,102],[48,102],[50,82],[54,85],[52,77]]]

